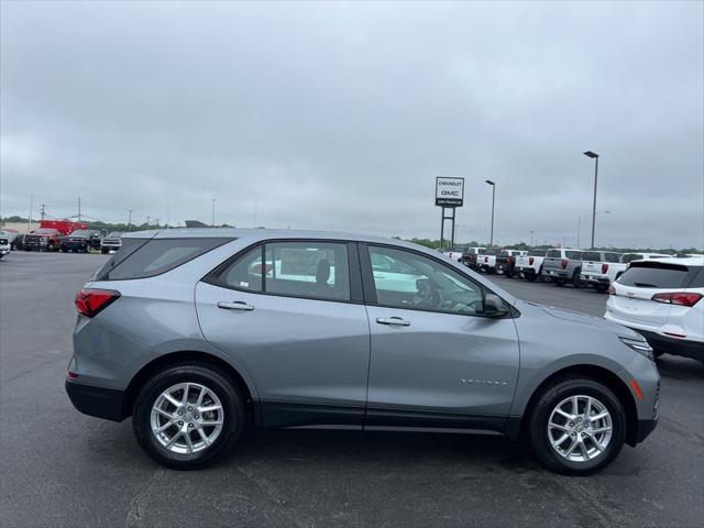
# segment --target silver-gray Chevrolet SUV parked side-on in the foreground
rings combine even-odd
[[[132,416],[146,453],[205,466],[256,427],[482,430],[587,474],[658,418],[638,333],[514,298],[398,240],[266,230],[125,234],[76,298],[66,391]]]

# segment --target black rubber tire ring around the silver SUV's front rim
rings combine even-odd
[[[578,395],[596,398],[612,417],[612,437],[606,449],[584,462],[571,461],[558,454],[548,436],[552,410],[560,402]],[[610,464],[624,447],[626,413],[616,395],[601,382],[590,377],[569,377],[558,381],[536,399],[528,416],[527,431],[535,455],[546,468],[566,475],[588,475]]]

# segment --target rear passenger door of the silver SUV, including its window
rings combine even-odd
[[[205,338],[246,370],[263,425],[361,427],[370,330],[355,244],[272,241],[196,287]]]

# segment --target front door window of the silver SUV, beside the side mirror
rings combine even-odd
[[[475,315],[483,310],[482,289],[454,270],[424,255],[392,248],[370,246],[376,301],[394,308],[413,308]],[[382,258],[394,271],[374,267]]]

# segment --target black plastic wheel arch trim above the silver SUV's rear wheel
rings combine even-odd
[[[124,391],[122,400],[123,419],[132,415],[132,409],[134,407],[134,403],[136,400],[140,388],[146,383],[147,380],[150,380],[150,377],[170,365],[188,361],[207,363],[227,373],[232,378],[238,388],[242,392],[248,413],[252,413],[255,420],[257,419],[258,413],[254,400],[254,395],[256,393],[253,387],[251,388],[248,385],[242,374],[240,374],[240,372],[230,363],[221,358],[218,358],[217,355],[209,354],[207,352],[194,351],[169,352],[167,354],[160,355],[158,358],[142,366],[142,369],[140,369],[140,371],[132,377],[130,384]]]

